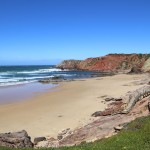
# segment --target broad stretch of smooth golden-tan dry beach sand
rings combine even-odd
[[[26,101],[0,106],[0,133],[26,130],[32,137],[56,136],[92,121],[91,114],[104,110],[101,96],[120,97],[142,85],[130,84],[146,75],[115,75],[62,83]]]

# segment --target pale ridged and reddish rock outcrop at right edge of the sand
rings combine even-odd
[[[98,116],[108,116],[115,114],[127,114],[129,113],[134,105],[141,99],[150,96],[150,86],[144,86],[135,91],[128,92],[126,95],[121,98],[106,98],[105,101],[115,101],[111,102],[104,111],[96,111],[92,114],[93,117]],[[119,100],[119,101],[118,101]]]

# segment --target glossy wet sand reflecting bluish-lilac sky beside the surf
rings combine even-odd
[[[39,82],[0,87],[0,105],[21,102],[58,85]]]

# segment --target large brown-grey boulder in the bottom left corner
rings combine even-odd
[[[32,148],[33,144],[25,130],[0,134],[0,146],[11,148]]]

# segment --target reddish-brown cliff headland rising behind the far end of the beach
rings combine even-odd
[[[148,54],[109,54],[83,61],[67,60],[57,67],[88,71],[123,71],[130,70],[133,67],[141,69],[149,56]]]

